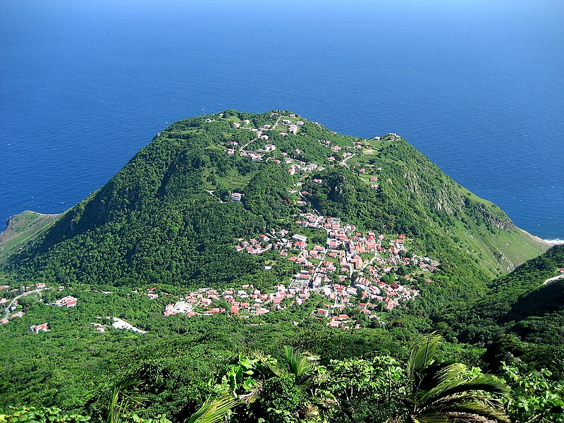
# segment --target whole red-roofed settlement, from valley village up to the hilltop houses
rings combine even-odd
[[[273,160],[276,164],[286,166],[290,175],[299,176],[299,182],[295,183],[295,188],[289,193],[296,195],[295,204],[303,211],[295,216],[294,222],[295,227],[302,228],[303,231],[290,233],[290,228],[278,231],[273,228],[256,238],[240,239],[240,243],[234,247],[237,252],[250,255],[276,251],[281,259],[299,264],[302,270],[286,282],[288,287],[278,284],[271,293],[264,293],[251,285],[221,292],[202,288],[176,303],[166,305],[164,315],[185,314],[193,317],[230,313],[247,319],[289,305],[300,305],[309,300],[311,295],[318,295],[326,303],[314,312],[314,317],[326,319],[328,326],[351,329],[360,327],[360,324],[357,323],[357,318],[349,316],[345,310],[352,311],[351,314],[355,316],[364,314],[371,320],[379,320],[378,313],[383,310],[391,311],[400,305],[409,307],[409,302],[419,295],[419,290],[412,288],[413,279],[410,274],[432,273],[439,263],[429,257],[408,254],[404,235],[390,238],[389,235],[386,237],[374,232],[360,233],[355,226],[341,223],[336,217],[305,212],[305,209],[311,210],[312,207],[307,202],[308,193],[301,187],[312,173],[323,171],[324,168],[298,159],[300,149],[295,149],[290,154],[277,152],[276,145],[269,143],[269,131],[278,128],[282,136],[297,135],[305,123],[295,114],[283,116],[272,112],[270,116],[276,117],[276,123],[265,124],[262,128],[252,128],[248,120],[232,122],[235,128],[251,130],[256,133],[256,137],[245,145],[239,145],[235,141],[227,142],[226,154],[239,154],[251,161],[263,161],[268,154],[266,161]],[[264,147],[247,149],[257,141],[264,142]],[[355,157],[363,147],[361,140],[351,141],[351,145],[341,147],[328,140],[319,140],[319,144],[327,148],[330,166],[333,166],[333,162],[348,166],[347,161]],[[292,157],[293,154],[295,157]],[[367,165],[357,169],[357,173],[369,188],[377,190],[379,185],[376,170],[381,169]],[[312,183],[322,182],[320,178],[312,178]],[[233,192],[231,201],[243,201],[243,193]],[[325,241],[308,241],[307,231],[324,231]],[[272,266],[264,266],[265,271],[271,269]],[[426,281],[430,282],[431,279],[427,277]]]

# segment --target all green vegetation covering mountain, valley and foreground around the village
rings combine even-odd
[[[0,422],[203,422],[197,419],[223,406],[235,411],[231,422],[426,421],[425,413],[450,412],[435,402],[447,389],[433,385],[439,379],[448,389],[484,388],[462,399],[448,391],[444,398],[459,406],[454,413],[482,407],[498,421],[562,421],[564,281],[542,284],[564,267],[564,247],[532,259],[547,246],[396,135],[362,140],[299,116],[291,118],[302,122],[295,134],[283,135],[290,124],[272,128],[289,116],[225,111],[173,123],[54,223],[27,214],[14,221],[20,231],[14,226],[6,237],[13,245],[0,252],[0,285],[9,286],[0,312],[25,291],[13,288],[50,289],[25,291],[12,311],[25,315],[0,325]],[[264,125],[267,141],[257,136]],[[264,150],[266,143],[276,150]],[[262,159],[243,156],[242,146]],[[317,166],[292,174],[287,159]],[[231,201],[233,192],[240,201]],[[248,255],[233,247],[271,229],[294,231],[305,212],[361,232],[405,234],[412,252],[440,264],[431,278],[414,273],[420,295],[409,307],[373,320],[357,315],[355,330],[313,319],[326,302],[316,295],[250,319],[163,316],[188,289],[288,285],[302,266],[274,250]],[[324,230],[307,234],[326,240]],[[149,287],[159,298],[147,298]],[[64,295],[78,305],[49,305]],[[109,317],[147,333],[114,329]],[[28,330],[44,321],[48,332]],[[439,347],[427,337],[435,361],[415,360],[419,333],[432,331],[448,342]],[[115,397],[110,412],[116,386],[144,399]],[[495,407],[485,410],[484,401]]]

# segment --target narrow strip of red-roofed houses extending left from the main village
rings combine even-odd
[[[283,309],[281,303],[284,300],[290,300],[298,305],[309,300],[307,287],[298,290],[279,284],[274,286],[273,291],[263,293],[252,285],[229,288],[221,293],[212,288],[201,288],[185,295],[183,300],[166,305],[163,314],[164,316],[185,314],[192,317],[228,312],[248,318],[269,313],[272,309]]]

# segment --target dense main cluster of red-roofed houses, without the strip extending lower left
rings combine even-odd
[[[336,217],[324,217],[314,213],[302,213],[295,220],[303,228],[324,228],[327,233],[325,245],[308,248],[307,237],[299,233],[290,236],[286,229],[269,235],[260,235],[250,242],[235,246],[235,250],[249,254],[274,248],[281,257],[302,265],[302,270],[293,277],[290,288],[309,289],[324,296],[331,304],[319,309],[318,317],[330,319],[328,325],[349,329],[354,320],[343,314],[348,307],[360,309],[370,319],[378,319],[376,312],[392,310],[405,302],[415,300],[419,290],[406,283],[410,276],[394,276],[395,281],[386,283],[381,277],[395,275],[400,267],[412,266],[422,271],[434,272],[438,262],[429,257],[407,255],[405,235],[384,242],[385,236],[369,231],[359,233],[354,225],[343,224]],[[260,243],[269,242],[265,249]],[[355,280],[351,280],[353,274]],[[407,273],[407,272],[403,272]],[[389,281],[389,277],[386,278]],[[350,281],[350,286],[346,283]],[[430,281],[430,279],[427,279]]]

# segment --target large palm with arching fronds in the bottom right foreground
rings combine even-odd
[[[391,422],[510,422],[501,401],[509,388],[503,381],[464,364],[435,360],[441,336],[431,333],[412,347],[407,362],[406,392],[400,396],[403,411]]]

